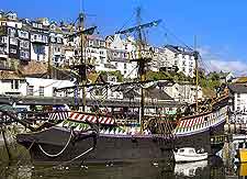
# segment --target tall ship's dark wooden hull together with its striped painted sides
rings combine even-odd
[[[211,137],[224,134],[226,107],[179,121],[170,134],[126,134],[81,131],[78,123],[92,115],[70,113],[70,123],[41,132],[19,134],[18,143],[30,149],[34,161],[128,163],[133,160],[173,160],[172,150],[181,147],[203,148],[214,155],[223,145],[211,145]],[[98,119],[98,124],[111,119]],[[74,128],[74,130],[71,130]]]

